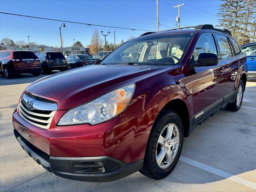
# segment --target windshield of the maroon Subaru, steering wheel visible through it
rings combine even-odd
[[[192,34],[142,36],[114,50],[101,64],[175,65],[191,37]]]

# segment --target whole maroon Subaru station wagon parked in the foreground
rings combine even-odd
[[[246,75],[246,56],[228,30],[149,32],[98,65],[28,86],[13,114],[14,134],[60,177],[106,182],[140,171],[162,179],[197,125],[226,106],[239,110]]]

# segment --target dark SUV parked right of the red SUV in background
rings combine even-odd
[[[36,56],[40,59],[42,74],[53,70],[66,71],[68,69],[67,60],[60,52],[38,52]]]

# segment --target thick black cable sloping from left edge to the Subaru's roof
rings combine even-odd
[[[36,19],[51,20],[51,21],[61,21],[61,22],[66,22],[66,23],[83,24],[83,25],[89,25],[89,26],[100,26],[100,27],[109,27],[109,28],[118,28],[118,29],[128,29],[128,30],[133,30],[133,31],[134,31],[134,30],[138,30],[138,31],[152,31],[152,30],[145,30],[145,29],[133,29],[133,28],[125,28],[125,27],[116,27],[116,26],[107,26],[107,25],[80,23],[80,22],[74,22],[74,21],[66,21],[66,20],[50,19],[50,18],[44,18],[44,17],[35,17],[35,16],[28,16],[28,15],[20,15],[20,14],[14,14],[14,13],[5,13],[5,12],[0,12],[0,13],[2,13],[2,14],[7,14],[7,15],[15,15],[15,16],[36,18]]]

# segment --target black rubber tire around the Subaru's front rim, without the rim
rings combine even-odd
[[[164,127],[169,123],[174,123],[178,127],[179,134],[180,134],[180,142],[179,142],[178,152],[177,152],[172,164],[169,167],[162,169],[158,166],[158,164],[156,162],[156,146],[157,146],[157,141],[160,136],[160,133],[162,132]],[[152,146],[150,146],[150,148],[151,148],[151,166],[152,166],[151,175],[153,176],[154,179],[162,179],[162,178],[168,176],[172,172],[172,170],[174,169],[174,167],[176,166],[176,164],[178,162],[178,159],[180,158],[182,145],[183,145],[183,124],[182,124],[182,120],[180,119],[178,114],[176,114],[174,112],[168,112],[158,120],[158,122],[156,123],[154,128],[156,128],[157,131],[156,131],[156,134],[154,135],[154,142],[152,143]],[[152,139],[152,136],[150,137],[150,139]]]

